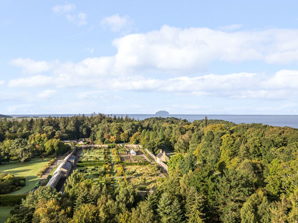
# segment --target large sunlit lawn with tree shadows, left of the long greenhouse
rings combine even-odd
[[[29,192],[35,187],[35,183],[39,182],[40,176],[37,176],[37,172],[49,162],[50,159],[34,158],[31,161],[20,163],[19,161],[10,161],[0,165],[0,172],[11,173],[15,176],[24,176],[26,178],[26,186],[17,190],[11,194],[23,194]]]

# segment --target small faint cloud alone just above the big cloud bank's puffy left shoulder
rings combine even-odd
[[[102,27],[109,28],[112,32],[129,31],[133,23],[133,19],[128,15],[119,16],[119,14],[105,17],[100,21]]]

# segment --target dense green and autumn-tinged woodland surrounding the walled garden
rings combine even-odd
[[[298,129],[223,120],[135,120],[93,114],[0,122],[0,163],[63,153],[60,140],[174,150],[169,178],[142,199],[74,172],[63,195],[40,187],[7,222],[297,222]],[[22,154],[25,154],[24,156]]]

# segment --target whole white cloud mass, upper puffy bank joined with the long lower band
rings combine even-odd
[[[163,26],[160,30],[115,39],[113,45],[117,53],[113,56],[90,57],[77,63],[18,58],[11,64],[35,76],[9,80],[8,86],[75,87],[84,80],[84,84],[93,89],[282,99],[290,95],[290,91],[291,95],[297,95],[297,70],[280,70],[275,74],[242,72],[200,76],[198,73],[218,61],[298,61],[294,56],[298,51],[297,35],[295,29],[226,32]],[[155,72],[160,74],[158,78],[148,78],[148,73]],[[80,99],[88,96],[78,95]]]

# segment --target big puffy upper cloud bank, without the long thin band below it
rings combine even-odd
[[[160,30],[115,39],[113,45],[117,53],[114,56],[86,58],[78,63],[52,62],[51,65],[60,73],[119,76],[148,71],[189,75],[206,71],[215,61],[291,63],[298,61],[296,36],[298,30],[295,29],[224,32],[163,26]],[[24,72],[39,73],[49,67],[43,61],[22,60],[23,63],[16,65]]]

